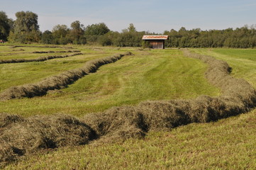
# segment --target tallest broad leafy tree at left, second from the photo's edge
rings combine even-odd
[[[17,12],[13,33],[10,34],[9,40],[21,43],[39,42],[38,15],[30,11]]]

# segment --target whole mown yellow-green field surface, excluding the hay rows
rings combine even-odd
[[[9,52],[1,53],[1,60],[7,56],[16,58],[13,49],[22,48],[19,57],[26,58],[34,50],[49,50],[42,47],[0,48]],[[46,96],[0,102],[0,113],[26,117],[67,113],[82,117],[112,106],[135,105],[140,101],[218,96],[221,93],[205,79],[207,65],[184,57],[180,50],[75,48],[83,55],[45,62],[0,64],[0,79],[3,80],[0,92],[9,86],[33,83],[81,67],[92,59],[126,51],[134,55],[104,65],[96,73],[84,76],[65,89],[50,91]],[[256,88],[256,50],[192,51],[227,61],[233,68],[233,77],[244,78]],[[40,55],[33,54],[33,57]],[[105,144],[95,141],[89,145],[31,154],[6,169],[255,169],[255,129],[256,111],[251,111],[215,123],[193,123],[170,132],[151,131],[142,140]]]

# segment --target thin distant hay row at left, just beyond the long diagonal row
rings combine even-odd
[[[56,58],[66,58],[72,57],[75,55],[82,55],[83,53],[74,53],[71,55],[50,55],[50,56],[42,56],[35,59],[10,59],[10,60],[0,60],[0,64],[9,64],[9,63],[21,63],[21,62],[44,62],[46,60],[52,60]]]

